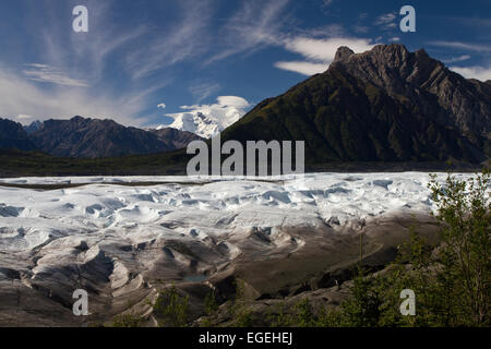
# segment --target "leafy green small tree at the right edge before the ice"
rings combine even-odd
[[[445,185],[432,176],[430,189],[444,222],[439,253],[439,284],[448,315],[471,326],[490,325],[491,200],[490,172],[468,181],[451,173]]]

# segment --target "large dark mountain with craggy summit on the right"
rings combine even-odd
[[[306,141],[309,164],[477,164],[491,155],[491,88],[423,50],[342,47],[325,73],[261,103],[221,139]]]

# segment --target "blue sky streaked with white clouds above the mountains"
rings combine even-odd
[[[406,4],[416,33],[399,29]],[[72,29],[75,5],[88,33]],[[244,112],[326,70],[340,45],[391,43],[491,80],[491,1],[5,0],[0,117],[153,127],[188,110]]]

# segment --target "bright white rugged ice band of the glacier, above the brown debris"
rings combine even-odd
[[[204,240],[251,228],[322,226],[330,220],[344,225],[383,214],[429,213],[434,208],[429,180],[428,173],[419,172],[306,174],[277,182],[187,177],[4,179],[0,182],[92,184],[55,191],[0,186],[0,251],[26,252],[68,237],[133,243],[167,236]]]

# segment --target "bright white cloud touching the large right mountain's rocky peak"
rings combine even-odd
[[[348,37],[327,39],[296,37],[285,40],[284,45],[287,50],[300,53],[307,60],[276,62],[275,67],[303,75],[313,75],[324,72],[336,57],[337,49],[342,46],[347,46],[357,53],[364,52],[373,47],[369,39]]]

